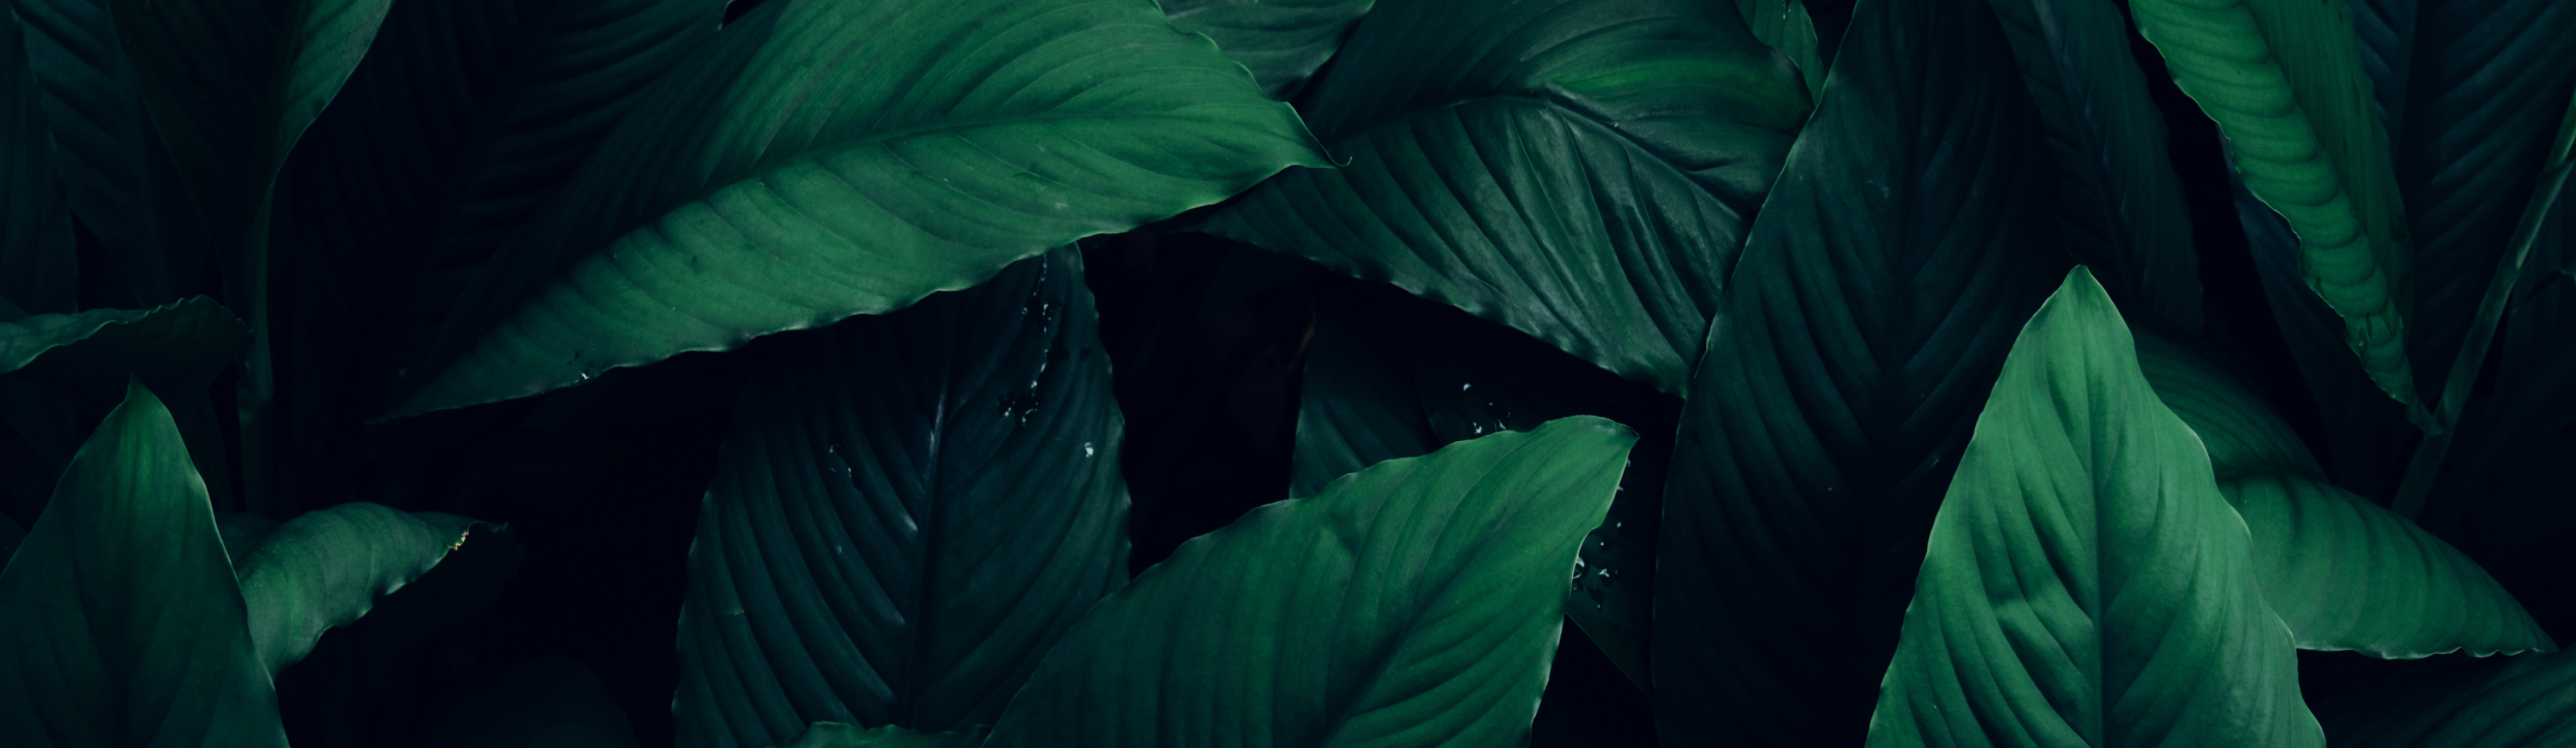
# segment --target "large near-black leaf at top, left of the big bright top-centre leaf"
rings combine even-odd
[[[361,419],[428,378],[474,270],[572,177],[721,0],[394,3],[278,175],[278,501],[355,486]],[[289,504],[291,506],[291,504]]]

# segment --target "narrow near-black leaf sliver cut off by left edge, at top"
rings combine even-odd
[[[0,13],[0,319],[72,311],[80,267],[44,95],[15,13]]]

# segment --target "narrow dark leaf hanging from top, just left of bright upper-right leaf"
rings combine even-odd
[[[2164,116],[2105,0],[2002,0],[2004,39],[2058,159],[2058,226],[2112,298],[2200,332],[2200,254]]]

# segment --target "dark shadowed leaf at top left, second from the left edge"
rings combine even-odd
[[[198,293],[204,224],[178,167],[144,116],[134,69],[103,0],[13,0],[26,23],[28,67],[44,87],[67,200],[98,234],[134,298],[90,306],[155,306]]]

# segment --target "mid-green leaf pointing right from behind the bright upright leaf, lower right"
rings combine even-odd
[[[2300,476],[2218,483],[2254,532],[2264,601],[2303,650],[2424,658],[2555,650],[2496,578],[2414,522]]]

